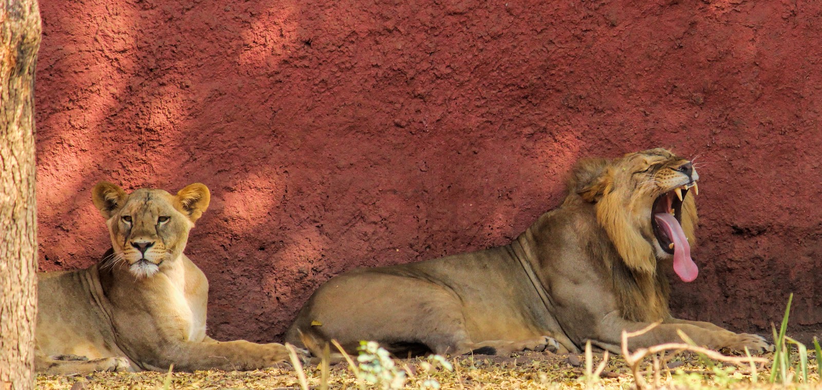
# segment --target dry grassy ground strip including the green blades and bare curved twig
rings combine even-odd
[[[668,343],[636,351],[627,350],[628,339],[648,332],[658,323],[635,333],[622,333],[623,356],[608,356],[607,352],[584,355],[556,355],[551,352],[525,352],[513,356],[458,356],[449,362],[436,359],[391,360],[376,343],[363,342],[358,359],[344,355],[344,360],[328,365],[329,346],[323,351],[321,365],[303,367],[292,351],[297,369],[273,368],[251,372],[199,371],[196,373],[97,373],[76,376],[44,376],[37,379],[44,389],[389,389],[390,383],[404,383],[409,389],[565,389],[603,388],[822,388],[822,348],[814,339],[814,348],[785,336],[788,299],[782,326],[774,328],[774,352],[761,356],[726,356],[694,346],[685,334],[683,343]],[[335,346],[342,351],[336,342]],[[367,344],[373,344],[367,347]],[[792,346],[789,346],[792,344]],[[381,350],[381,351],[377,351]],[[381,356],[381,357],[379,357]],[[772,365],[778,371],[771,369]],[[367,383],[369,372],[386,374],[381,385]],[[391,381],[390,378],[401,379]],[[372,375],[372,379],[376,379]],[[779,383],[779,384],[777,384]]]

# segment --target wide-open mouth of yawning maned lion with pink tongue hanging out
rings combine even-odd
[[[659,195],[651,208],[651,226],[659,246],[666,253],[673,255],[674,271],[684,282],[691,282],[699,273],[694,260],[690,258],[690,244],[682,231],[682,201],[688,190],[696,187],[692,182]]]

